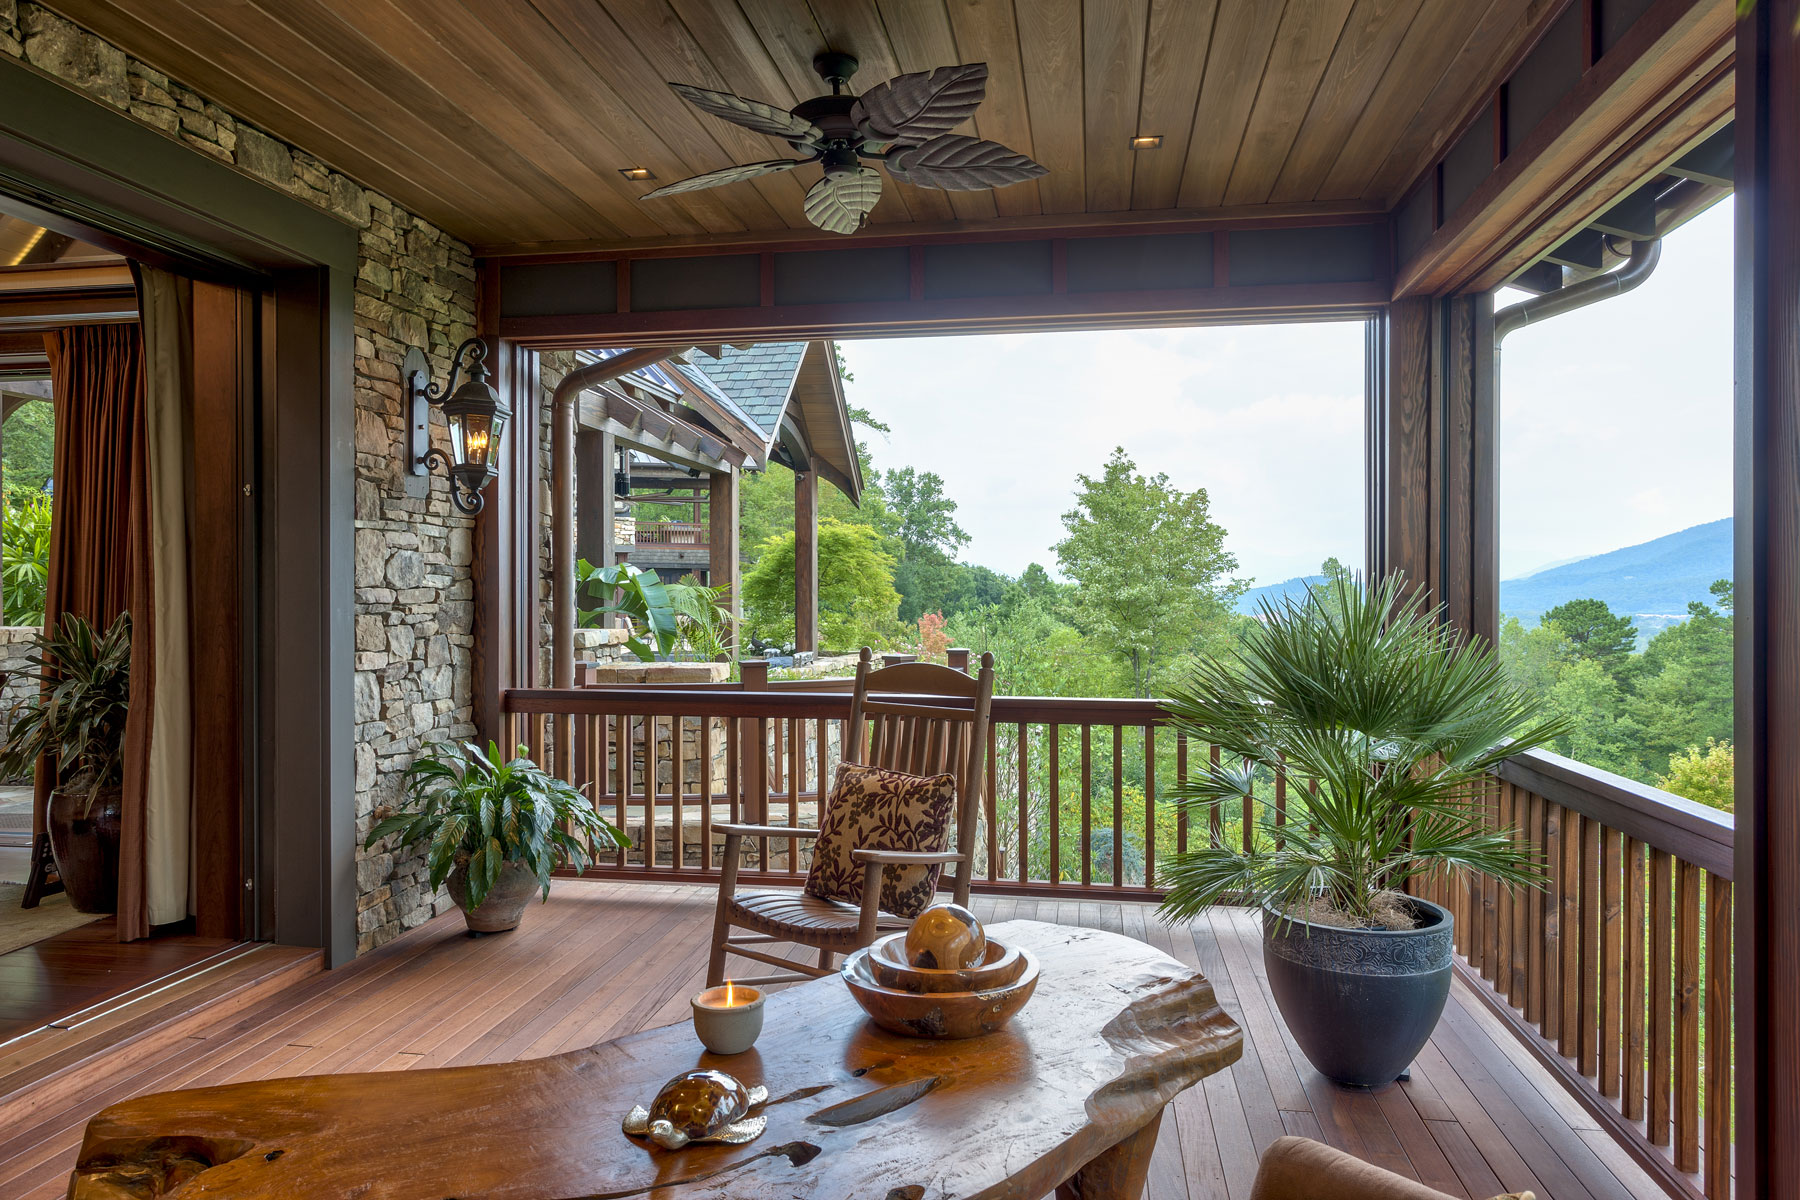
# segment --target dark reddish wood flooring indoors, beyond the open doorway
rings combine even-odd
[[[121,943],[113,918],[0,954],[0,1042],[229,952],[223,937]],[[5,1193],[0,1193],[5,1195]]]

